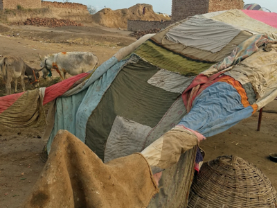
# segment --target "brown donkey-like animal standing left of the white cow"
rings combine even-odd
[[[12,79],[15,82],[15,93],[17,92],[17,78],[21,78],[21,86],[25,89],[24,76],[27,76],[28,82],[34,87],[39,87],[39,73],[35,69],[29,67],[24,60],[15,56],[5,56],[0,61],[0,69],[2,71],[3,82],[6,83],[6,94],[10,95],[10,83]]]

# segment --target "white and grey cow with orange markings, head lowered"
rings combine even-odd
[[[39,55],[39,58],[43,78],[51,76],[51,69],[55,69],[62,80],[65,79],[66,73],[75,76],[96,69],[99,64],[97,56],[90,52],[60,52],[46,55],[44,60],[42,60],[41,55]]]

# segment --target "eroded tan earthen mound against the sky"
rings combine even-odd
[[[145,14],[143,15],[143,7]],[[111,10],[104,8],[93,15],[93,21],[102,26],[110,28],[127,28],[127,20],[163,21],[170,20],[166,15],[159,15],[154,12],[152,5],[138,3],[130,8]]]

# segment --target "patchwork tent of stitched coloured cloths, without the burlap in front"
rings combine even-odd
[[[51,102],[47,151],[58,130],[68,130],[104,162],[140,153],[176,125],[216,135],[276,98],[276,22],[275,13],[255,10],[189,17],[120,49],[96,71],[0,98],[0,122],[36,125]],[[195,146],[163,171],[148,207],[186,207],[197,153]]]

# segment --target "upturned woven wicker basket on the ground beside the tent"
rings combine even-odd
[[[245,159],[217,157],[202,165],[190,189],[190,208],[277,207],[276,189]]]

